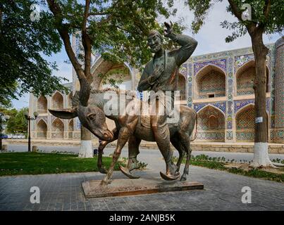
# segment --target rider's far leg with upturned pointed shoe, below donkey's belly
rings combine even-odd
[[[139,145],[140,145],[141,139],[137,139],[134,135],[130,136],[128,140],[128,165],[127,167],[119,166],[121,169],[121,172],[125,176],[128,176],[130,179],[138,179],[140,176],[135,176],[130,173],[133,169],[139,169],[138,161],[137,161],[137,155],[139,152]]]

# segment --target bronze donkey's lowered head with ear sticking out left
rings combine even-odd
[[[103,110],[97,106],[85,107],[79,105],[75,109],[49,110],[49,112],[61,119],[72,119],[79,117],[82,126],[86,127],[95,136],[103,141],[109,141],[113,138],[113,133],[106,125],[106,116]]]

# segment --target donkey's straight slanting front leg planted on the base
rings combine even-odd
[[[122,117],[121,120],[123,119],[124,118]],[[113,153],[113,160],[111,162],[111,166],[109,167],[109,171],[107,172],[106,176],[101,181],[101,185],[106,186],[109,184],[109,179],[111,179],[114,166],[116,165],[116,162],[119,156],[121,155],[121,150],[125,146],[125,143],[128,141],[129,137],[132,136],[132,134],[134,133],[137,122],[138,122],[137,116],[131,116],[131,117],[128,116],[125,119],[125,127],[122,127],[118,133],[118,142],[116,145],[116,150]]]

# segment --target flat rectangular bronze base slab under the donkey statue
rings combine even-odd
[[[203,184],[195,181],[161,181],[161,179],[115,179],[108,186],[101,186],[100,184],[100,180],[82,183],[85,198],[145,195],[168,191],[204,189]]]

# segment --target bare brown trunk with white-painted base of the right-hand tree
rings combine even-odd
[[[273,166],[268,157],[268,120],[266,115],[266,55],[268,49],[263,43],[262,32],[252,35],[256,76],[254,79],[254,158],[252,167]]]

